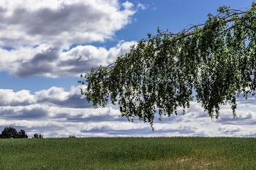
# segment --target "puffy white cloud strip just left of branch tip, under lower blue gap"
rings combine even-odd
[[[14,92],[10,89],[0,89],[0,107],[25,107],[33,104],[50,104],[59,107],[90,108],[86,98],[80,95],[80,88],[72,86],[69,92],[64,88],[53,86],[48,90],[40,90],[31,94],[29,90]]]

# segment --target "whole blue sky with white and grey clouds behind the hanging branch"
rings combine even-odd
[[[211,120],[200,103],[187,113],[129,122],[118,106],[94,109],[80,95],[80,74],[108,65],[131,45],[157,34],[204,23],[223,5],[252,0],[1,0],[0,130],[14,127],[44,137],[256,136],[256,100],[237,98],[237,117],[222,106]]]

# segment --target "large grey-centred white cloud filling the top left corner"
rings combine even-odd
[[[68,48],[74,43],[103,42],[131,22],[133,4],[122,5],[124,10],[116,0],[0,1],[0,46]]]

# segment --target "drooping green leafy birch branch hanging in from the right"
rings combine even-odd
[[[196,98],[211,118],[219,107],[230,104],[236,117],[236,96],[255,95],[256,4],[236,10],[219,7],[205,23],[173,34],[157,30],[148,34],[129,53],[109,66],[86,72],[81,93],[94,107],[105,107],[110,99],[121,116],[151,124],[154,114],[177,115]],[[193,90],[196,95],[193,96]]]

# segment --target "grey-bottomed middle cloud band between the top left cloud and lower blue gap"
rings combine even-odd
[[[129,52],[136,42],[118,42],[107,50],[105,47],[79,45],[69,51],[42,44],[37,47],[18,47],[15,50],[0,49],[0,71],[8,71],[15,77],[32,75],[44,77],[78,76],[99,65],[113,63],[120,55]]]

